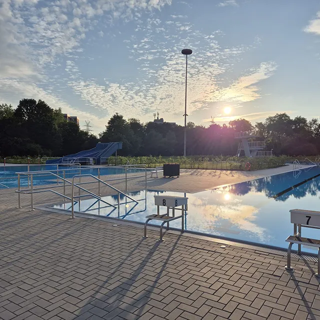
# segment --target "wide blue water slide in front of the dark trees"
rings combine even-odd
[[[68,163],[74,159],[77,162],[87,162],[88,158],[94,158],[96,164],[101,164],[101,158],[107,158],[116,150],[122,149],[122,142],[98,142],[96,146],[89,150],[82,150],[77,153],[65,155],[59,159],[46,160],[46,164]]]

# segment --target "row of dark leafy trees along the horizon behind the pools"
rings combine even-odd
[[[0,156],[63,156],[89,149],[100,142],[121,141],[119,155],[182,155],[183,126],[172,123],[141,123],[115,113],[98,137],[74,122],[67,122],[61,109],[53,109],[42,100],[22,99],[16,108],[0,104]],[[286,113],[269,116],[252,125],[246,119],[205,127],[187,123],[187,155],[234,156],[238,140],[234,133],[255,131],[265,140],[266,149],[275,155],[320,154],[318,118],[291,118]]]

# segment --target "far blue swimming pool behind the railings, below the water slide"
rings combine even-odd
[[[76,174],[93,174],[98,175],[98,168],[89,167],[89,166],[81,166],[79,169],[78,166],[59,166],[58,172],[60,176],[63,176],[62,170],[67,169],[66,178],[71,178]],[[109,174],[124,174],[124,167],[100,167],[100,175],[109,175]],[[57,173],[56,165],[30,165],[29,171],[52,171],[53,173]],[[127,173],[135,173],[135,172],[144,172],[145,168],[128,168]],[[147,169],[151,170],[151,169]],[[9,166],[1,166],[0,167],[0,189],[2,188],[13,188],[18,186],[17,182],[17,174],[16,172],[26,172],[28,171],[28,165],[9,165]],[[33,176],[33,185],[43,185],[43,184],[55,184],[56,177],[53,175],[34,175]],[[2,184],[2,185],[1,185]],[[26,175],[21,175],[20,186],[27,186],[28,180]]]

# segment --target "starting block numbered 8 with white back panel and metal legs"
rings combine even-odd
[[[159,241],[162,242],[162,227],[166,223],[166,229],[169,229],[169,222],[175,219],[181,218],[181,231],[184,231],[184,210],[187,210],[188,198],[184,196],[172,196],[172,195],[154,195],[154,204],[156,205],[156,214],[151,214],[146,216],[146,221],[144,223],[144,235],[146,238],[146,225],[150,220],[162,221],[160,225],[160,238]],[[160,206],[166,206],[166,213],[160,214]],[[170,209],[172,215],[170,215]],[[175,210],[180,210],[181,214],[175,216]]]

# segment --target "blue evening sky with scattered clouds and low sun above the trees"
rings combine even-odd
[[[183,124],[183,48],[188,121],[320,116],[319,0],[0,0],[0,103]]]

